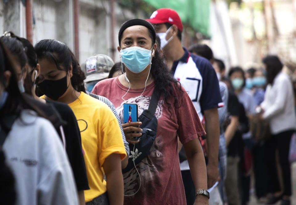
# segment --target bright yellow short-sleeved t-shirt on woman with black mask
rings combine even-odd
[[[44,98],[44,96],[42,96]],[[84,150],[84,162],[89,190],[84,191],[89,202],[107,191],[102,165],[110,154],[126,157],[118,121],[102,101],[81,92],[78,99],[68,104],[76,116]]]

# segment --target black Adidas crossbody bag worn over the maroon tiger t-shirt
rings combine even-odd
[[[139,138],[140,141],[137,144],[129,144],[129,162],[126,168],[122,170],[122,173],[126,173],[134,168],[149,154],[150,148],[156,137],[157,118],[155,117],[155,111],[159,97],[160,94],[154,88],[148,109],[144,110],[138,118],[138,120],[142,122],[142,125],[140,126],[143,130],[141,132],[142,136]]]

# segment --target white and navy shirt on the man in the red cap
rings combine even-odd
[[[171,72],[184,89],[188,91],[200,121],[204,110],[223,106],[219,82],[211,63],[186,48],[181,59],[174,61]]]

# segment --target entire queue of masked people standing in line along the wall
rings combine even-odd
[[[171,9],[131,19],[120,62],[0,38],[1,204],[291,204],[295,92],[276,55],[227,69]]]

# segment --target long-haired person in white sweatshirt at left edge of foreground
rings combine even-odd
[[[0,64],[1,145],[15,177],[16,204],[78,205],[72,170],[58,134],[42,111],[21,94],[15,72],[22,70],[21,65],[2,40]]]

